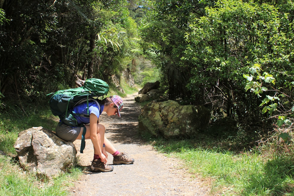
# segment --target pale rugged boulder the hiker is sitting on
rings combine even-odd
[[[43,127],[19,133],[14,148],[19,164],[41,178],[51,178],[76,165],[76,148]]]

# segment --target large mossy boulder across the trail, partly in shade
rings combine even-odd
[[[176,101],[151,102],[139,115],[139,132],[166,138],[190,138],[204,129],[210,111],[202,105],[180,105]]]

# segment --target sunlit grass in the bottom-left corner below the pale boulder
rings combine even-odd
[[[64,173],[53,180],[42,182],[34,174],[22,171],[6,156],[0,155],[0,195],[69,195],[68,187],[73,186],[73,181],[78,179],[81,171],[72,168],[69,173]]]

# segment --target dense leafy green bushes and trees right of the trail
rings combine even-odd
[[[245,132],[292,130],[293,1],[149,3],[143,49],[156,53],[170,99],[204,104]]]

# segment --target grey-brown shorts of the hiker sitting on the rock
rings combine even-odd
[[[59,138],[69,142],[74,142],[81,132],[81,127],[70,127],[68,125],[58,123],[55,132]]]

